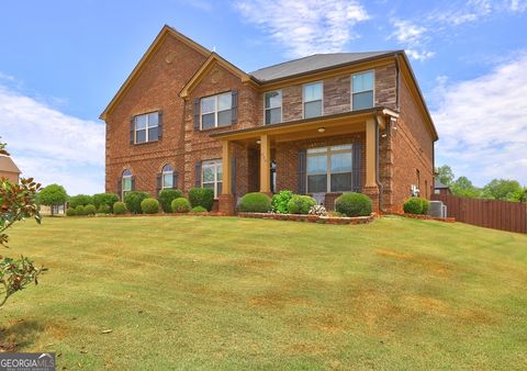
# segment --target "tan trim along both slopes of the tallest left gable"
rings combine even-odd
[[[121,100],[121,98],[124,95],[124,93],[128,90],[131,87],[132,82],[135,81],[135,79],[138,77],[139,72],[142,71],[143,67],[146,65],[146,63],[150,59],[152,55],[154,54],[155,50],[159,47],[159,45],[162,43],[162,41],[168,36],[171,35],[186,44],[187,46],[193,48],[194,50],[201,53],[204,56],[210,56],[211,50],[208,48],[203,47],[202,45],[198,44],[197,42],[192,41],[191,38],[184,36],[180,32],[176,31],[175,29],[170,27],[169,25],[164,25],[157,37],[154,40],[154,42],[150,44],[146,53],[143,55],[141,60],[137,63],[135,68],[132,70],[130,76],[126,78],[126,80],[123,82],[121,88],[119,89],[117,93],[112,98],[110,103],[106,105],[104,111],[101,113],[99,119],[105,120],[106,114],[110,113],[113,108],[117,104],[117,102]]]

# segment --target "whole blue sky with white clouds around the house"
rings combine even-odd
[[[436,166],[527,186],[527,0],[2,0],[0,136],[25,177],[104,191],[100,113],[164,24],[246,71],[405,49]]]

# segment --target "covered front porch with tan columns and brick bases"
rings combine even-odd
[[[343,192],[362,192],[372,199],[373,210],[379,211],[379,133],[385,130],[390,116],[396,113],[373,109],[211,135],[222,142],[223,148],[218,211],[233,215],[242,193],[271,195],[284,189],[300,194],[317,193],[318,198],[322,194],[329,209]],[[244,149],[250,171],[233,173],[234,147]],[[338,161],[340,172],[332,173],[332,164]],[[329,170],[318,175],[324,169],[317,168]],[[247,178],[245,191],[234,194],[239,187],[233,187],[233,182],[239,182],[240,177]]]

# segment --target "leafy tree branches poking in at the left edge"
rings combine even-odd
[[[0,143],[0,155],[9,156],[5,145]],[[21,179],[20,183],[12,183],[5,178],[0,179],[0,245],[8,247],[9,236],[5,229],[15,222],[34,217],[41,223],[38,206],[35,196],[41,184],[30,179]],[[45,269],[36,269],[33,262],[24,257],[20,259],[3,258],[0,261],[0,306],[15,292],[27,284],[37,283],[37,277]]]

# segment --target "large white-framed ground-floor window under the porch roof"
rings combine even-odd
[[[307,193],[351,191],[351,145],[307,149]]]

